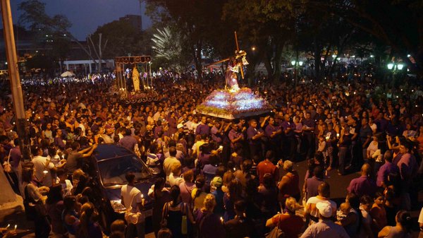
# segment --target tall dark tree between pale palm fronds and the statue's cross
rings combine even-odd
[[[157,28],[170,25],[183,35],[184,44],[189,49],[192,61],[197,69],[199,79],[202,78],[202,52],[205,48],[216,46],[214,56],[228,56],[225,44],[212,44],[219,37],[220,41],[232,39],[232,25],[223,24],[221,18],[223,5],[227,0],[195,1],[195,0],[147,0],[147,14]],[[231,30],[228,30],[231,29]]]

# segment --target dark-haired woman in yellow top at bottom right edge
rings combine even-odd
[[[409,212],[405,210],[398,211],[396,215],[396,226],[384,227],[377,237],[379,238],[408,238],[411,237],[412,220]]]

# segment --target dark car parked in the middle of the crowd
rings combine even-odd
[[[135,186],[145,198],[143,212],[146,222],[151,220],[152,201],[147,193],[157,176],[152,174],[140,157],[120,145],[101,144],[92,153],[84,170],[90,176],[92,199],[104,230],[108,230],[114,220],[123,219],[126,209],[121,204],[121,187],[128,184],[125,179],[127,172],[134,172]]]

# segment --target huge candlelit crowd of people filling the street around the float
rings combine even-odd
[[[102,143],[119,144],[157,169],[148,194],[156,237],[263,237],[271,229],[286,237],[410,236],[423,172],[418,86],[386,95],[374,81],[262,84],[252,89],[273,111],[226,121],[195,112],[223,88],[218,79],[157,79],[159,99],[134,105],[109,93],[111,81],[26,85],[30,161],[4,93],[0,159],[11,165],[36,237],[144,237],[151,228],[130,172],[121,201],[135,220],[97,222],[84,158]],[[308,167],[300,178],[293,165],[301,160]],[[345,184],[345,201],[331,201],[328,172],[360,168]]]

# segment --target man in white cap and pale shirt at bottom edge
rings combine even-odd
[[[340,225],[332,221],[333,208],[326,202],[316,203],[319,210],[319,222],[307,227],[300,238],[350,238]]]

